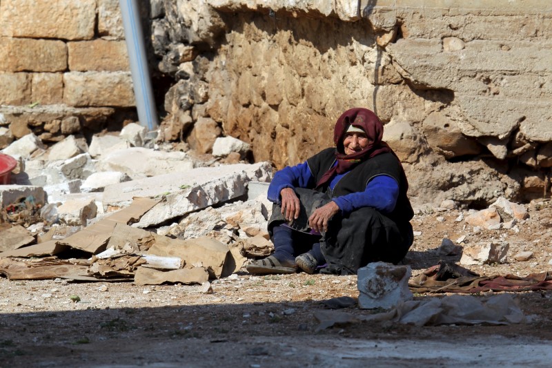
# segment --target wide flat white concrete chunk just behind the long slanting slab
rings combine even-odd
[[[113,151],[98,162],[99,171],[121,171],[132,179],[167,173],[184,173],[195,166],[184,152],[162,152],[131,147]]]

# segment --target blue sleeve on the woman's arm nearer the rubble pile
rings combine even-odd
[[[274,174],[272,182],[268,186],[268,200],[275,204],[282,204],[280,192],[284,188],[313,188],[315,178],[303,162],[297,166],[286,166]]]

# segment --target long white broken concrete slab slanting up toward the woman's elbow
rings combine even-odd
[[[135,195],[165,197],[135,224],[144,228],[244,195],[247,182],[270,177],[271,173],[270,164],[260,162],[195,168],[132,180],[107,186],[103,191],[103,207],[126,206]]]

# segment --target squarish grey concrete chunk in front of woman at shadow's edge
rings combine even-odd
[[[386,262],[369,263],[366,267],[359,268],[359,307],[391,309],[401,302],[412,300],[413,294],[408,289],[411,275],[410,266],[395,266]]]

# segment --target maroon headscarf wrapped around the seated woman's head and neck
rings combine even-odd
[[[371,143],[362,151],[346,155],[343,140],[348,127],[351,125],[364,130],[368,139],[371,140]],[[337,165],[326,171],[319,182],[317,182],[316,186],[319,187],[328,182],[328,180],[331,180],[335,173],[346,173],[351,170],[353,166],[366,159],[380,155],[381,153],[391,152],[395,155],[388,144],[382,141],[383,135],[384,126],[371,110],[367,108],[351,108],[351,110],[346,110],[339,119],[337,119],[337,123],[335,123],[335,128],[333,130],[333,143],[337,148],[335,151]]]

